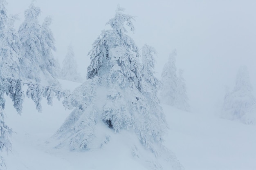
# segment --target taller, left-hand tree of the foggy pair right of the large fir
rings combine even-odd
[[[176,74],[177,68],[175,65],[177,53],[174,50],[168,59],[168,62],[164,65],[162,71],[162,89],[160,92],[161,102],[164,104],[168,104],[170,106],[174,106],[175,104],[175,95],[177,91],[177,81],[178,77]]]

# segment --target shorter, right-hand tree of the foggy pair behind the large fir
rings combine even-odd
[[[189,103],[188,103],[188,96],[186,95],[186,83],[185,79],[183,78],[183,70],[179,69],[179,76],[177,79],[177,89],[175,95],[175,101],[173,106],[180,110],[189,111]]]

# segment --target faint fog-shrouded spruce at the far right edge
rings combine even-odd
[[[236,75],[233,91],[227,91],[222,107],[221,117],[239,119],[245,124],[256,123],[256,99],[246,66],[241,66]]]

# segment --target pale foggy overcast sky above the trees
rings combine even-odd
[[[8,13],[20,15],[31,0],[7,0]],[[85,76],[91,44],[106,22],[115,15],[117,4],[136,16],[135,34],[129,35],[141,48],[155,47],[157,77],[177,49],[177,68],[184,78],[192,111],[212,112],[225,86],[233,88],[240,65],[248,67],[256,91],[256,1],[255,0],[37,0],[40,22],[51,15],[60,62],[72,43]]]

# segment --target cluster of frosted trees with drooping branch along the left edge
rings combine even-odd
[[[18,114],[22,112],[24,84],[29,86],[27,96],[33,99],[37,109],[40,111],[40,100],[47,99],[52,104],[52,97],[58,99],[65,95],[61,89],[52,87],[58,84],[55,79],[54,67],[56,63],[52,50],[55,50],[52,32],[48,26],[50,19],[46,18],[43,26],[38,24],[40,9],[33,4],[25,11],[25,21],[21,24],[19,31],[14,29],[16,15],[7,16],[5,0],[0,0],[0,150],[11,150],[11,128],[4,122],[5,96],[13,101],[13,107]],[[40,81],[40,72],[46,77],[51,86],[25,83],[27,79]],[[0,169],[6,169],[4,159],[0,157]]]

